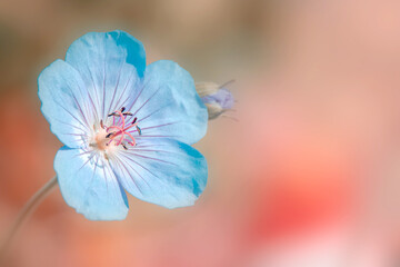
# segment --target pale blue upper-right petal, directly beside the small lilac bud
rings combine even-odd
[[[144,136],[164,136],[191,145],[206,135],[207,108],[190,73],[176,62],[149,65],[142,88],[136,93],[128,109],[138,117]]]

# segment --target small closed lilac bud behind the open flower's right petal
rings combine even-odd
[[[196,83],[196,90],[208,109],[209,120],[217,119],[223,112],[233,108],[234,98],[232,93],[224,88],[231,82],[232,81],[226,82],[222,86],[216,82]]]

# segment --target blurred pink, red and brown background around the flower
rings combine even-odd
[[[0,0],[0,235],[61,144],[37,77],[88,31],[121,29],[237,101],[197,148],[209,182],[176,210],[130,197],[89,221],[59,189],[7,266],[400,266],[400,2]]]

